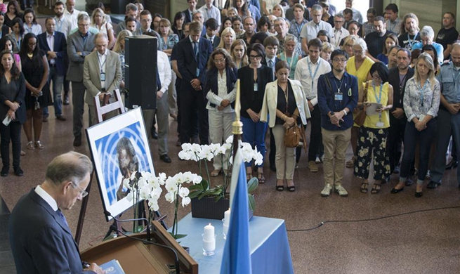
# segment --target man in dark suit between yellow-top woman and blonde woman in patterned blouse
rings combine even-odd
[[[397,51],[397,67],[393,67],[388,74],[388,83],[393,86],[393,107],[390,110],[390,128],[386,145],[391,173],[399,173],[400,169],[401,145],[407,121],[402,100],[407,80],[414,76],[414,69],[409,66],[410,60],[411,52],[407,48],[401,48]],[[389,181],[389,178],[386,179]],[[412,185],[412,176],[407,177],[406,185]]]

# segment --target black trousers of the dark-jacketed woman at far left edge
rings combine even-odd
[[[20,122],[11,122],[8,126],[0,123],[0,151],[1,162],[4,167],[10,166],[10,141],[13,144],[13,167],[19,167],[21,157],[21,124]]]

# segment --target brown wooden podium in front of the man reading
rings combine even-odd
[[[130,235],[131,236],[131,235]],[[145,233],[132,237],[147,240]],[[180,273],[198,274],[198,263],[169,235],[158,221],[152,221],[152,241],[176,250]],[[101,265],[117,259],[126,274],[174,273],[175,255],[170,249],[154,244],[145,244],[131,237],[120,236],[107,240],[81,253],[81,260]]]

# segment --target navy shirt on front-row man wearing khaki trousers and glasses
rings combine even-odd
[[[329,84],[327,84],[329,79]],[[335,100],[335,93],[338,92],[340,86],[340,93],[342,100]],[[357,78],[345,72],[341,81],[335,76],[334,72],[322,74],[318,79],[318,105],[321,112],[321,127],[329,131],[342,131],[349,129],[353,126],[352,112],[357,105]],[[348,115],[343,116],[343,122],[339,126],[331,124],[329,119],[329,112],[341,112],[345,107],[348,107]]]

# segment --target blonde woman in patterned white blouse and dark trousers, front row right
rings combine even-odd
[[[400,181],[391,193],[404,190],[405,181],[410,176],[416,145],[419,143],[419,175],[415,197],[423,195],[423,181],[428,171],[430,148],[436,133],[436,116],[440,105],[440,83],[435,78],[435,65],[428,53],[421,53],[415,63],[414,77],[409,79],[404,93],[404,111],[407,124],[404,136]]]

